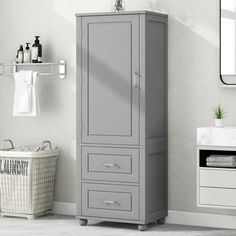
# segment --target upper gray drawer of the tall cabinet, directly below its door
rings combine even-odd
[[[82,177],[89,180],[139,181],[139,150],[82,148]]]

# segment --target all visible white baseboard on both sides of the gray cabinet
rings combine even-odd
[[[76,204],[72,202],[54,202],[53,213],[75,216]],[[166,223],[236,229],[236,216],[169,210]]]

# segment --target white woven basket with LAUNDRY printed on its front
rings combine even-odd
[[[1,216],[32,219],[52,208],[58,149],[0,151]]]

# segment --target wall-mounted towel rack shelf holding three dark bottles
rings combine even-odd
[[[59,60],[58,63],[0,63],[0,76],[14,76],[18,70],[38,71],[39,76],[57,76],[64,79],[66,76],[66,62]]]

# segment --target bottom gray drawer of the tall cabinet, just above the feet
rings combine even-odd
[[[82,215],[138,220],[138,187],[82,184]]]

